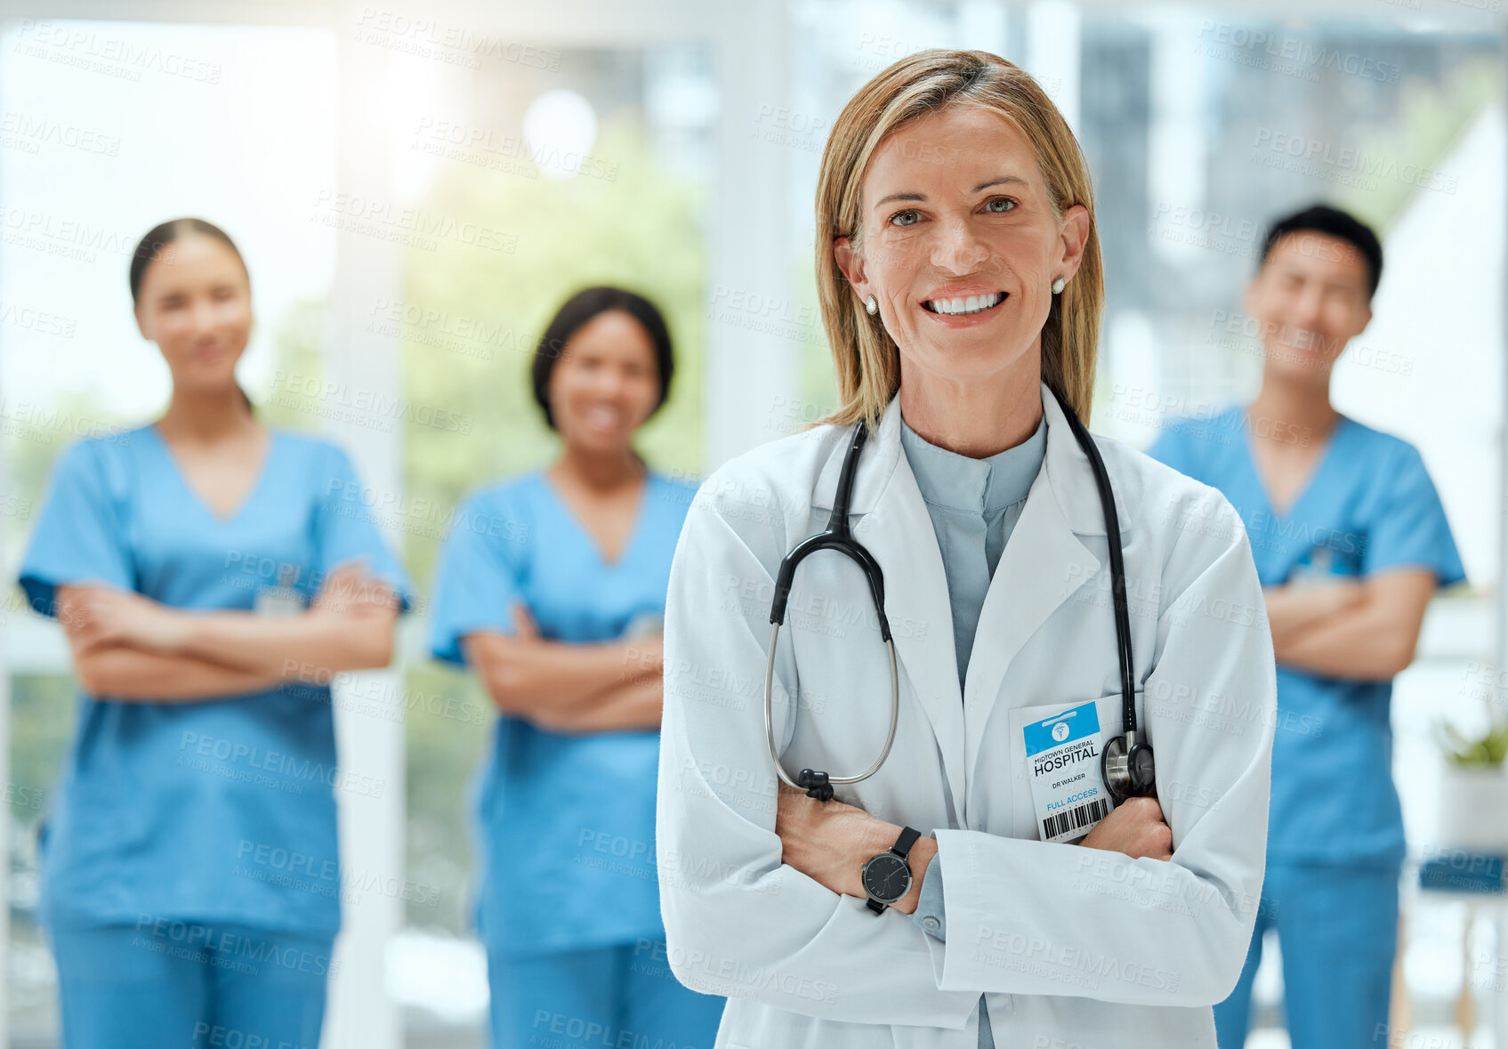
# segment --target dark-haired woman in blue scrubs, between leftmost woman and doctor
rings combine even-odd
[[[661,630],[695,488],[633,436],[671,372],[651,303],[573,295],[534,359],[559,458],[469,494],[440,559],[430,648],[499,710],[475,791],[498,1049],[710,1049],[722,1014],[670,969],[657,877],[676,871],[654,864]]]

